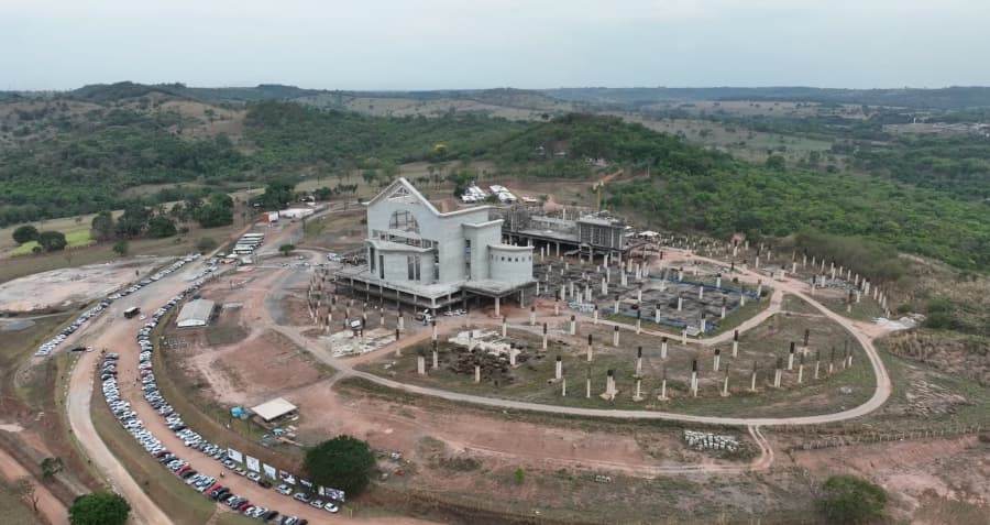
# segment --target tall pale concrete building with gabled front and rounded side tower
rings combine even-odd
[[[532,247],[502,242],[502,219],[479,206],[440,212],[405,178],[367,203],[367,264],[339,286],[436,309],[470,297],[501,299],[532,285]]]

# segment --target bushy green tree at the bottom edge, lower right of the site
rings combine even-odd
[[[887,492],[855,475],[833,475],[822,486],[818,510],[832,523],[865,523],[883,515]]]

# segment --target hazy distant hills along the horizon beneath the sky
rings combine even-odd
[[[170,95],[208,103],[241,105],[258,100],[297,100],[314,106],[348,109],[355,99],[406,99],[424,103],[470,101],[485,106],[532,110],[587,109],[636,110],[658,103],[700,100],[776,100],[824,105],[868,105],[913,109],[990,108],[990,87],[938,89],[835,89],[812,87],[569,87],[556,89],[441,89],[426,91],[344,91],[306,89],[279,84],[254,87],[188,87],[184,84],[92,84],[66,92],[0,91],[0,100],[21,97],[62,96],[91,102],[108,102],[150,94]]]

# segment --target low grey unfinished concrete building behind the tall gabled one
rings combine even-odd
[[[541,205],[530,204],[495,209],[493,216],[503,219],[502,233],[508,243],[547,247],[548,254],[615,259],[644,243],[624,218],[608,211],[566,207],[544,211]]]

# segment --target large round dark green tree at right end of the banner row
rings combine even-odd
[[[302,468],[314,483],[342,490],[353,497],[371,481],[375,456],[367,442],[338,436],[308,449]]]

